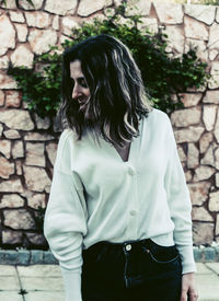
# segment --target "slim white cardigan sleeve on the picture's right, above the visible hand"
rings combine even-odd
[[[175,225],[173,232],[174,242],[182,259],[183,274],[185,274],[196,271],[192,238],[192,202],[169,117],[166,136],[169,161],[164,185],[171,219]]]

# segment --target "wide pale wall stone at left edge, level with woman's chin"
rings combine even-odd
[[[31,119],[30,113],[23,109],[7,109],[0,113],[0,121],[4,123],[9,128],[32,130],[34,124]]]

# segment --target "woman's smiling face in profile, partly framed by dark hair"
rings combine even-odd
[[[85,112],[90,99],[90,90],[81,70],[81,61],[70,62],[70,78],[73,81],[72,100],[80,105],[80,111]]]

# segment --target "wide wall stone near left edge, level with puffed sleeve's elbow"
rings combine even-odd
[[[35,221],[25,209],[3,210],[4,225],[12,229],[35,229]]]

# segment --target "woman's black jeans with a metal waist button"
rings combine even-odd
[[[175,246],[150,239],[100,242],[82,256],[83,301],[180,301],[182,264]]]

